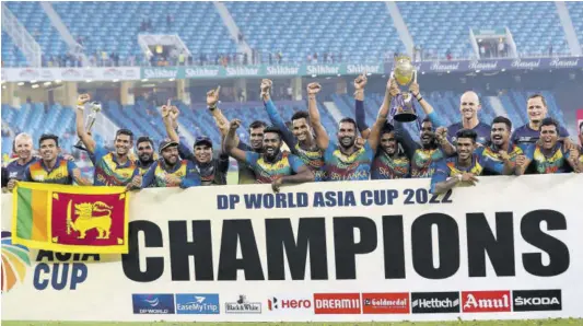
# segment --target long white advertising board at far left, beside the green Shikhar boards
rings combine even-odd
[[[110,81],[139,80],[139,67],[2,68],[2,81]]]

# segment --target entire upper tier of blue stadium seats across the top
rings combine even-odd
[[[39,33],[45,57],[67,53],[67,45],[51,26],[39,2],[7,2],[31,34]],[[178,34],[190,53],[236,53],[212,2],[53,2],[73,36],[84,38],[85,54],[115,51],[124,60],[140,57],[139,33]],[[377,62],[387,53],[405,51],[384,2],[225,2],[252,48],[281,50],[283,62],[305,62],[307,55],[342,54],[345,61]],[[579,40],[583,44],[583,4],[567,3]],[[565,35],[553,2],[398,2],[416,45],[444,58],[474,55],[469,28],[508,26],[521,55],[568,54]],[[166,16],[174,19],[166,24]],[[142,19],[151,32],[140,32]],[[2,60],[7,67],[26,60],[2,33]],[[213,58],[213,57],[212,57]],[[264,62],[267,56],[263,57]]]

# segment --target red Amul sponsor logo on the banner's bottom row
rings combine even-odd
[[[462,312],[510,312],[510,291],[462,292]]]

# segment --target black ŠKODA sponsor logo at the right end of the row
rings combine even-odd
[[[561,290],[512,291],[515,312],[540,312],[562,310]]]

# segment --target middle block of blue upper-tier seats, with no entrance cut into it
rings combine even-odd
[[[378,62],[404,45],[384,2],[225,2],[252,48],[283,53],[283,62],[342,53],[352,62]]]

